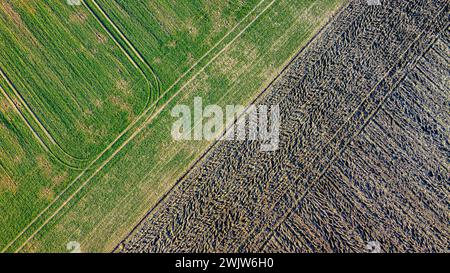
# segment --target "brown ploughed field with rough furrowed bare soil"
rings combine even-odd
[[[117,251],[448,251],[449,23],[352,1],[258,101],[280,149],[216,143]]]

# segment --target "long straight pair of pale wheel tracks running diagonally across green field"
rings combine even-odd
[[[138,127],[135,129],[135,131],[132,133],[132,135],[130,137],[128,137],[113,153],[112,155],[110,155],[104,162],[103,164],[101,164],[94,172],[91,176],[89,176],[87,178],[87,180],[73,193],[69,196],[68,199],[66,199],[62,205],[51,215],[49,216],[49,218],[47,218],[44,223],[35,231],[31,234],[30,237],[28,237],[28,239],[17,249],[15,250],[15,252],[19,252],[21,249],[23,249],[23,247],[32,239],[34,238],[34,236],[39,233],[40,230],[42,230],[43,227],[45,227],[88,183],[89,181],[94,178],[102,169],[104,166],[106,166],[130,141],[132,141],[151,121],[153,121],[153,119],[159,114],[161,113],[162,110],[165,109],[165,107],[171,103],[173,101],[173,99],[175,97],[177,97],[177,95],[184,90],[194,79],[196,79],[198,77],[198,75],[200,73],[202,73],[206,67],[208,67],[212,62],[214,62],[226,49],[228,49],[230,47],[230,45],[232,45],[240,36],[242,36],[242,34],[244,32],[246,32],[246,30],[252,26],[258,19],[259,17],[261,17],[277,0],[272,0],[262,11],[260,11],[259,13],[257,13],[257,15],[255,16],[255,18],[253,18],[231,41],[229,41],[228,43],[225,44],[225,46],[214,55],[214,57],[209,60],[199,71],[197,71],[185,84],[183,84],[180,89],[172,95],[172,97],[167,100],[163,105],[161,105],[159,107],[159,110],[156,112],[153,112],[152,110],[154,109],[153,107],[157,107],[158,103],[161,102],[162,98],[164,97],[164,95],[168,94],[172,89],[174,89],[178,83],[180,83],[185,77],[187,77],[189,75],[189,73],[191,71],[194,71],[194,69],[206,58],[208,57],[209,54],[211,54],[217,47],[219,47],[222,42],[228,38],[240,25],[242,25],[242,23],[247,20],[250,15],[252,15],[264,2],[266,2],[267,0],[261,0],[241,21],[239,21],[229,32],[227,32],[227,34],[221,38],[221,40],[219,40],[208,52],[206,52],[200,59],[199,61],[197,61],[186,73],[184,73],[177,81],[175,84],[173,84],[170,88],[168,88],[158,99],[157,102],[155,102],[151,107],[149,107],[146,111],[144,111],[144,113],[139,116],[132,124],[130,124],[127,129],[125,129],[102,153],[100,153],[100,155],[94,159],[94,161],[92,161],[92,163],[85,169],[83,170],[83,172],[81,172],[67,187],[66,189],[64,189],[41,213],[39,213],[39,215],[37,215],[31,222],[30,224],[27,225],[27,227],[25,227],[11,242],[8,243],[8,245],[5,246],[5,248],[3,248],[2,252],[6,252],[9,248],[11,248],[11,246],[16,243],[16,241],[18,239],[20,239],[22,237],[22,235],[27,232],[32,226],[33,224],[35,224],[42,216],[44,213],[46,213],[59,199],[61,199],[61,197],[68,191],[68,189],[70,187],[72,187],[78,180],[80,180],[81,177],[83,177],[87,171],[89,170],[90,167],[92,167],[103,155],[106,154],[106,152],[109,151],[109,149],[111,147],[113,147],[118,140],[120,140],[122,138],[122,136],[124,136],[126,133],[128,133],[128,131],[130,131],[130,129],[132,129],[132,127],[134,127],[134,125],[136,125],[138,123],[138,121],[142,121],[141,125],[138,125]]]

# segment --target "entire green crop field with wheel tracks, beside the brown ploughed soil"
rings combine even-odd
[[[170,110],[249,103],[344,1],[85,2],[0,4],[6,252],[112,250],[210,144]]]

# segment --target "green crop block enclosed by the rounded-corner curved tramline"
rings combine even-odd
[[[92,158],[143,111],[145,78],[86,10],[65,1],[0,5],[0,68],[34,127],[41,123],[61,154]]]

